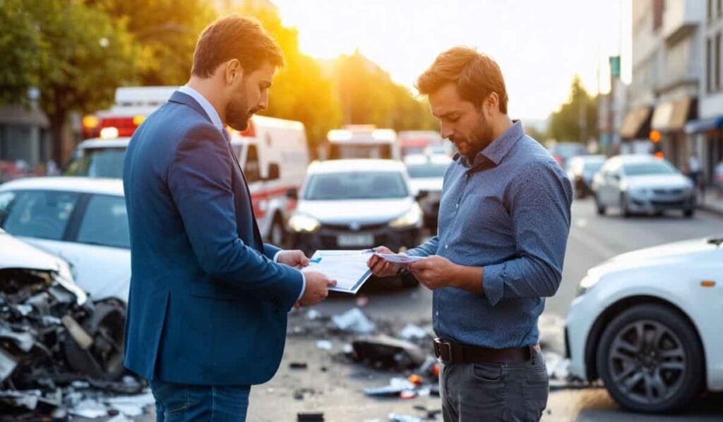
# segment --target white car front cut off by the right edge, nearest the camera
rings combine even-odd
[[[570,374],[625,408],[664,413],[723,391],[723,237],[675,242],[588,271],[565,321]]]

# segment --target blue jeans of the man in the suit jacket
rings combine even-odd
[[[246,421],[250,386],[212,386],[150,381],[157,422]]]

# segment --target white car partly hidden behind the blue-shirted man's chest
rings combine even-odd
[[[437,231],[442,182],[451,162],[449,156],[442,154],[416,154],[404,158],[411,190],[420,197],[419,206],[422,206],[424,213],[424,227],[428,227],[432,232]]]

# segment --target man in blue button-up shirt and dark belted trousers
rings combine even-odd
[[[537,318],[560,285],[572,187],[508,117],[502,72],[488,56],[451,48],[417,87],[458,150],[445,173],[437,236],[408,251],[427,257],[408,271],[434,290],[444,419],[539,420],[548,378]],[[369,266],[382,277],[407,271],[378,257]]]

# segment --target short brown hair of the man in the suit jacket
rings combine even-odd
[[[247,17],[221,17],[199,35],[191,73],[210,77],[223,62],[238,59],[245,72],[254,72],[265,62],[283,66],[281,48],[259,22]]]

